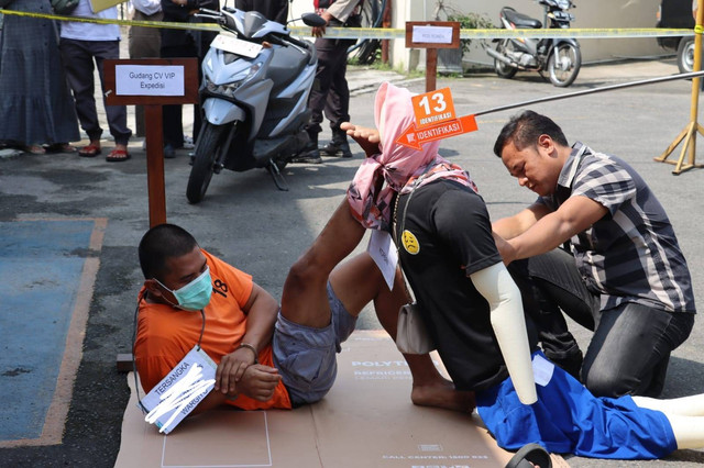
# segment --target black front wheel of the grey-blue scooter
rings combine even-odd
[[[186,197],[190,203],[198,203],[206,196],[218,154],[221,148],[226,125],[204,122],[204,129],[195,148],[194,166],[188,177]]]

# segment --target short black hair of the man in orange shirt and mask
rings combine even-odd
[[[144,278],[163,278],[168,258],[189,254],[197,246],[196,238],[180,226],[160,224],[152,227],[144,234],[139,247]]]

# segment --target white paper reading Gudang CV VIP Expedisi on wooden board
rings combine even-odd
[[[118,96],[184,96],[183,65],[116,65]]]

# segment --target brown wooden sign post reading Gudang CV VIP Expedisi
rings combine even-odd
[[[107,59],[106,104],[144,105],[150,226],[166,222],[162,105],[198,102],[196,58]]]

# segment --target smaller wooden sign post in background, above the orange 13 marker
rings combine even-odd
[[[406,47],[426,49],[426,92],[436,89],[438,49],[460,47],[458,21],[407,21]]]

